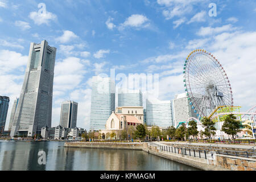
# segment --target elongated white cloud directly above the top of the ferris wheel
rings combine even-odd
[[[200,36],[206,36],[206,35],[214,35],[214,34],[219,34],[221,32],[225,31],[234,31],[237,30],[236,27],[233,27],[231,24],[226,24],[222,27],[201,27],[199,32],[197,32],[197,35]]]

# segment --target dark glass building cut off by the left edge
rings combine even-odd
[[[5,131],[5,122],[8,112],[10,98],[6,96],[0,96],[0,134]]]

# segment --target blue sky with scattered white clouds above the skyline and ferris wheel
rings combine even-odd
[[[216,11],[213,11],[216,5]],[[216,14],[214,14],[216,12]],[[93,76],[159,76],[159,100],[184,92],[183,64],[194,49],[212,53],[230,80],[234,105],[256,105],[253,0],[0,0],[0,96],[11,108],[22,88],[30,43],[56,47],[52,126],[64,100],[79,103],[89,129]],[[115,80],[118,85],[118,80]]]

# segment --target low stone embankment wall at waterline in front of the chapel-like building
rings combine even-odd
[[[142,143],[65,142],[64,147],[142,150]]]

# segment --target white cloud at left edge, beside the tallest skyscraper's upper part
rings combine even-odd
[[[8,73],[15,69],[22,69],[27,65],[28,56],[9,50],[0,51],[0,73]]]

